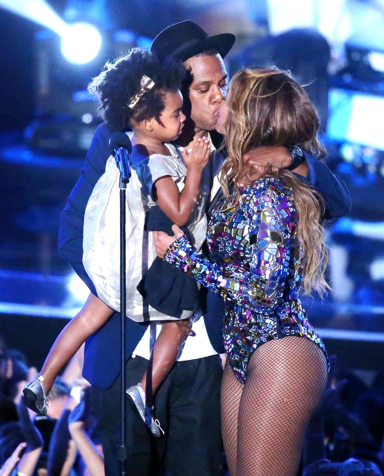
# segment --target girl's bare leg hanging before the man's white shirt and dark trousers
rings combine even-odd
[[[189,319],[163,322],[161,331],[153,346],[151,365],[141,381],[147,401],[151,406],[151,397],[156,394],[160,383],[165,379],[176,361],[185,336],[191,333]]]

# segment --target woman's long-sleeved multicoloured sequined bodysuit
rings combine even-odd
[[[223,198],[208,225],[209,258],[183,236],[165,259],[225,300],[224,347],[244,384],[249,359],[262,344],[288,335],[324,345],[299,300],[302,270],[297,212],[291,190],[273,177],[240,190],[236,206]]]

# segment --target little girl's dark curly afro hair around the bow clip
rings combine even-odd
[[[143,75],[152,79],[155,86],[131,110],[128,104],[131,97],[139,92]],[[132,122],[152,117],[161,124],[164,96],[180,89],[185,75],[186,69],[181,62],[160,62],[150,51],[133,48],[114,63],[107,62],[101,73],[88,85],[88,90],[100,100],[98,111],[108,128],[125,132],[132,128]]]

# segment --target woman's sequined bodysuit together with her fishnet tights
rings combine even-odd
[[[297,225],[291,190],[263,178],[240,190],[235,206],[217,204],[209,259],[185,235],[165,254],[225,300],[222,432],[229,472],[237,476],[296,475],[327,381],[324,345],[299,300]]]

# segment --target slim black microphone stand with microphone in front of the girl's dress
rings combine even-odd
[[[117,144],[113,144],[114,136],[112,135],[110,144],[112,155],[116,160],[116,165],[120,171],[119,189],[120,189],[120,315],[121,315],[121,432],[120,444],[118,445],[118,459],[120,461],[120,475],[127,475],[126,462],[128,459],[128,446],[126,434],[126,413],[127,413],[127,399],[126,399],[126,325],[125,319],[127,314],[127,288],[126,288],[126,188],[131,176],[129,164],[129,152],[132,150],[132,145],[126,134],[118,136]],[[119,141],[120,137],[120,141]],[[128,139],[128,143],[126,142]]]

